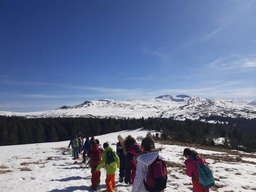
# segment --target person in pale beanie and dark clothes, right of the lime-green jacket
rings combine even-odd
[[[123,183],[124,178],[124,168],[125,168],[125,154],[123,153],[123,136],[118,135],[117,136],[118,143],[116,143],[116,154],[119,157],[120,160],[120,168],[119,168],[119,180],[118,182]]]

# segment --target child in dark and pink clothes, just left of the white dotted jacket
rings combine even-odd
[[[126,184],[133,184],[137,168],[137,161],[134,161],[134,158],[141,152],[140,145],[131,135],[128,135],[124,140],[124,153],[126,154],[124,182]]]

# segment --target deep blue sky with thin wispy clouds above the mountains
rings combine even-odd
[[[0,110],[189,94],[256,99],[256,1],[8,1]]]

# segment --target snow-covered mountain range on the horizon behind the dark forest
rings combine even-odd
[[[85,101],[73,107],[42,112],[5,112],[0,115],[40,117],[173,117],[174,119],[199,119],[200,116],[221,115],[229,117],[256,118],[256,105],[252,100],[216,99],[190,97],[188,95],[161,95],[151,99],[126,101]]]

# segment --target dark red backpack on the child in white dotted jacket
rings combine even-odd
[[[149,166],[147,172],[147,181],[144,180],[144,186],[149,192],[160,192],[166,188],[167,168],[165,162],[157,157]]]

